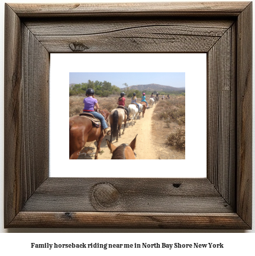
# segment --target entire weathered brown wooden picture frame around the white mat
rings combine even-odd
[[[5,228],[251,229],[251,17],[252,2],[5,4]],[[207,177],[50,178],[50,53],[75,52],[207,53]]]

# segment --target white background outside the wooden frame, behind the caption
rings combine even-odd
[[[177,0],[175,0],[177,1]],[[187,1],[187,0],[186,0]],[[58,3],[63,3],[63,2],[71,2],[69,1],[56,1],[56,0],[33,0],[33,1],[20,1],[20,0],[15,0],[15,1],[8,1],[9,3],[11,2],[33,2],[33,3],[39,3],[39,2],[58,2]],[[79,1],[79,2],[102,2],[102,1]],[[132,1],[110,1],[108,2],[132,2]],[[133,1],[134,2],[134,1]],[[151,2],[150,0],[146,1],[139,1],[139,2]],[[162,0],[163,2],[163,0]],[[1,87],[3,85],[3,65],[4,65],[4,2],[1,2],[1,62],[0,62],[0,76],[1,76]],[[253,24],[253,27],[254,24]],[[254,37],[254,31],[253,31],[253,37]],[[253,40],[254,41],[254,40]],[[254,52],[254,51],[253,51]],[[253,63],[254,63],[254,55],[253,55]],[[253,77],[254,77],[254,71],[253,71]],[[2,91],[1,93],[1,99],[3,100],[3,94]],[[254,97],[254,94],[253,94]],[[253,113],[255,111],[253,110]],[[1,127],[2,127],[2,113],[1,113]],[[254,123],[253,123],[254,127]],[[1,143],[3,142],[3,136],[1,133],[0,136]],[[0,152],[0,161],[1,161],[1,167],[3,166],[3,148],[1,148]],[[254,254],[254,241],[255,241],[255,228],[253,228],[252,231],[226,231],[226,230],[172,230],[172,229],[167,229],[167,230],[162,230],[162,229],[146,229],[146,230],[141,230],[141,229],[46,229],[46,228],[20,228],[20,229],[4,229],[3,228],[3,168],[1,168],[1,176],[0,176],[0,182],[1,182],[1,203],[0,203],[0,253],[2,255],[5,254],[16,254],[16,255],[45,255],[51,254],[51,255],[56,255],[56,251],[49,251],[49,249],[37,249],[36,251],[33,249],[30,249],[30,243],[31,242],[56,242],[56,243],[66,243],[66,242],[101,242],[101,243],[141,243],[141,242],[183,242],[183,243],[192,243],[192,242],[215,242],[219,243],[222,242],[225,244],[224,249],[213,249],[213,250],[205,250],[205,249],[200,249],[199,251],[192,251],[192,249],[180,249],[180,251],[174,251],[179,253],[180,255],[186,255],[187,253],[192,253],[195,252],[196,255],[241,255],[244,252],[247,254]],[[255,175],[254,175],[255,176]],[[254,176],[253,176],[253,184],[255,184],[254,181]],[[255,194],[253,191],[253,216],[254,216],[254,198]],[[255,227],[255,222],[254,222],[254,217],[253,217],[253,227]],[[20,234],[20,232],[22,234]],[[30,233],[31,232],[31,233]],[[55,234],[54,232],[58,232],[58,234]],[[66,232],[66,233],[61,233],[61,232]],[[74,232],[72,234],[68,234],[70,232]],[[81,233],[79,233],[81,232]],[[98,233],[100,232],[100,233]],[[107,232],[107,233],[106,233]],[[117,233],[118,232],[118,233]],[[139,233],[139,232],[149,232],[149,233]],[[176,233],[177,232],[177,233]],[[180,233],[178,233],[180,232]],[[246,233],[246,234],[244,234]],[[102,249],[98,249],[99,251],[89,251],[93,252],[95,254],[97,253],[102,253]],[[152,250],[152,251],[151,251]],[[77,250],[78,251],[78,250]],[[74,252],[71,249],[62,249],[60,252],[62,255],[70,255],[70,253]],[[76,252],[76,255],[85,255],[85,253],[88,251],[79,251]],[[110,250],[104,250],[104,254],[111,254],[111,255],[120,255],[121,254],[128,254],[138,252],[141,253],[141,251],[129,251],[129,250],[115,250],[115,251],[110,251]],[[160,252],[160,255],[169,255],[172,251],[168,251],[161,249],[160,251],[156,251],[155,249],[144,249],[143,252],[145,253],[155,253],[155,252]]]

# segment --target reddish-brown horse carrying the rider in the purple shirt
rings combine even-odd
[[[102,111],[100,111],[102,113]],[[104,110],[106,120],[109,119],[109,112]],[[108,122],[106,121],[106,124]],[[109,124],[108,124],[109,125]],[[98,143],[96,147],[95,159],[98,159],[98,152],[100,152],[100,145],[105,134],[103,127],[95,127],[92,121],[84,116],[74,116],[69,119],[69,159],[78,159],[79,153],[86,142],[96,140]]]

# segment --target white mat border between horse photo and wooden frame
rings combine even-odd
[[[185,72],[185,159],[127,160],[121,171],[119,161],[109,166],[109,160],[101,159],[102,168],[93,168],[93,161],[69,160],[69,72]],[[143,140],[138,134],[137,143]],[[51,54],[50,156],[50,177],[206,177],[206,54]]]

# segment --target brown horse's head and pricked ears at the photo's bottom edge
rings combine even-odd
[[[121,144],[120,146],[118,146],[118,148],[116,146],[114,146],[111,142],[109,142],[108,139],[106,139],[108,148],[110,149],[110,151],[112,153],[111,159],[135,159],[136,155],[134,153],[134,149],[135,149],[136,137],[137,137],[137,135],[132,140],[130,145]]]

